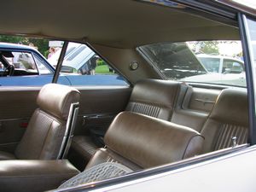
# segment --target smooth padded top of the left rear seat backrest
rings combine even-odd
[[[143,79],[135,84],[130,102],[143,102],[173,108],[180,86],[181,83],[170,80]]]

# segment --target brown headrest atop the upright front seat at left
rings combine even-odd
[[[79,102],[80,93],[72,87],[62,84],[45,84],[38,94],[40,109],[53,116],[67,120],[72,103]]]

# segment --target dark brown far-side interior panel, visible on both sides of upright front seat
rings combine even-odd
[[[75,135],[89,130],[104,134],[113,117],[125,109],[130,87],[104,86],[78,88],[81,92]],[[26,124],[38,108],[40,87],[3,87],[0,89],[0,150],[13,152],[26,131]]]

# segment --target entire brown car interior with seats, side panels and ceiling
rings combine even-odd
[[[113,9],[116,5],[119,9]],[[1,86],[0,191],[90,189],[114,177],[249,145],[247,87],[180,80],[187,75],[170,79],[142,48],[163,42],[239,41],[233,9],[229,17],[219,17],[178,3],[118,0],[54,1],[50,8],[30,1],[24,9],[32,15],[29,21],[17,25],[10,17],[0,32],[86,44],[127,85]],[[63,10],[69,13],[65,19],[59,16]],[[98,16],[90,16],[95,10]],[[50,20],[53,13],[55,20]],[[170,65],[177,66],[174,61],[184,53],[175,49],[169,54]],[[5,62],[3,55],[0,61]],[[179,73],[184,66],[177,68]]]

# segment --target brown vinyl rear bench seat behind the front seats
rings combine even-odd
[[[178,125],[188,126],[192,119],[193,124],[189,127],[201,132],[206,137],[204,153],[230,147],[230,137],[236,137],[236,142],[239,144],[247,142],[246,91],[222,90],[210,115],[206,113],[200,116],[196,112],[191,113],[189,110],[183,110],[186,112],[183,113],[183,119],[180,117],[177,119],[175,113],[180,108],[180,101],[183,100],[186,90],[188,90],[186,84],[145,79],[134,86],[125,110],[143,113],[158,119],[171,120]],[[90,160],[98,146],[93,143],[90,137],[78,136],[73,138],[72,148],[81,154],[85,160]]]

